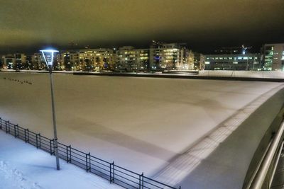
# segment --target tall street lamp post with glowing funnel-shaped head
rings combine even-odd
[[[55,105],[54,105],[54,95],[53,95],[53,55],[54,52],[58,50],[40,50],[43,53],[43,59],[45,64],[48,66],[49,76],[50,76],[50,91],[51,91],[51,103],[53,108],[53,132],[54,132],[54,149],[56,157],[56,168],[60,170],[59,157],[58,157],[58,134],[56,130],[56,119],[55,119]]]

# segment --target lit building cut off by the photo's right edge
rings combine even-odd
[[[263,45],[261,48],[261,68],[263,70],[284,69],[284,43]]]

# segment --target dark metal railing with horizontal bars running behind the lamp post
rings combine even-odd
[[[38,149],[43,149],[50,153],[50,155],[55,155],[54,139],[48,139],[40,133],[36,134],[1,118],[0,130],[13,135],[15,138],[22,139],[24,142],[32,144]],[[67,161],[67,163],[79,166],[87,172],[94,173],[97,176],[107,179],[109,183],[115,183],[123,188],[178,189],[148,178],[143,173],[138,174],[129,171],[126,168],[117,166],[114,162],[104,161],[103,159],[92,156],[90,153],[84,153],[83,151],[72,148],[71,145],[67,146],[58,142],[58,155],[60,159]]]

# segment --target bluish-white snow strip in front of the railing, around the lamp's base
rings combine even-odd
[[[0,130],[0,188],[121,188],[65,161],[60,166],[57,171],[55,156]]]

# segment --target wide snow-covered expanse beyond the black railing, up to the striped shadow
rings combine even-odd
[[[55,74],[58,138],[156,176],[224,120],[282,85]],[[0,73],[0,87],[2,118],[52,138],[48,74]]]

